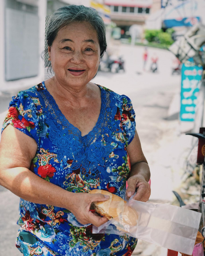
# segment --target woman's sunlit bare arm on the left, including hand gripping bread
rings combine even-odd
[[[0,143],[0,185],[30,202],[66,208],[82,224],[99,226],[106,222],[107,218],[89,211],[93,201],[105,201],[106,197],[66,191],[29,170],[36,151],[33,138],[8,125],[2,132]]]

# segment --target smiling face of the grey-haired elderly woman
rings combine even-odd
[[[48,54],[58,83],[72,88],[84,86],[98,71],[97,32],[86,21],[64,26],[48,47]]]

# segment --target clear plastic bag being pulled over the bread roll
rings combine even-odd
[[[136,224],[122,212],[93,233],[123,235],[124,233],[171,249],[192,255],[201,213],[170,204],[145,203],[130,199],[127,204],[137,216]],[[126,211],[124,211],[126,212]]]

